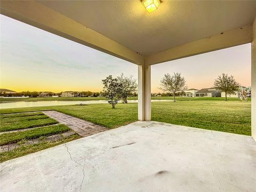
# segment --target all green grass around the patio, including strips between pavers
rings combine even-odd
[[[158,98],[159,99],[159,98]],[[200,98],[201,99],[201,98]],[[251,135],[251,102],[223,101],[223,100],[205,100],[205,101],[177,101],[177,102],[153,102],[152,120],[166,122],[176,125],[186,125],[198,127],[207,130],[224,131],[230,133]],[[118,104],[116,109],[111,109],[107,103],[73,106],[50,106],[50,107],[28,107],[0,109],[0,114],[17,113],[14,115],[0,115],[1,129],[2,122],[8,121],[10,127],[20,124],[20,127],[26,127],[21,119],[43,117],[42,113],[20,112],[56,110],[71,116],[75,116],[95,124],[103,125],[109,128],[115,128],[125,124],[137,121],[138,104]],[[13,119],[13,120],[11,120]],[[45,118],[42,118],[45,119]],[[41,121],[36,119],[35,121]],[[47,119],[47,118],[46,118]],[[26,121],[25,121],[26,122]],[[26,126],[25,126],[26,125]],[[5,126],[5,129],[7,129]],[[47,135],[57,134],[69,130],[65,125],[52,125],[48,127],[38,127],[18,133],[7,133],[0,135],[0,144],[13,143],[26,139],[39,138]],[[34,153],[42,149],[53,147],[61,143],[81,138],[77,134],[63,138],[56,142],[42,142],[35,145],[21,145],[19,148],[0,153],[0,162],[8,159],[20,157],[26,154]]]

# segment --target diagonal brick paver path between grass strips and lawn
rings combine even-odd
[[[67,125],[70,129],[74,130],[77,134],[82,137],[86,137],[95,133],[100,133],[103,131],[109,130],[108,128],[95,125],[94,123],[84,121],[70,115],[62,114],[60,112],[51,110],[51,111],[42,111],[45,115],[57,120],[59,123]]]

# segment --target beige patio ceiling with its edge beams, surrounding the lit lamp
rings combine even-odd
[[[137,65],[252,41],[256,1],[1,1],[1,14]]]

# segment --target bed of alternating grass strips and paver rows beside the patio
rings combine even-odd
[[[81,138],[42,112],[0,115],[0,162]]]

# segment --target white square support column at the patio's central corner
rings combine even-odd
[[[138,66],[138,120],[151,120],[151,66]]]

